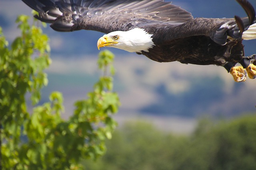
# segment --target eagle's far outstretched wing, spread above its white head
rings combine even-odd
[[[22,0],[36,10],[38,20],[56,31],[80,29],[104,33],[127,31],[148,23],[178,25],[193,16],[163,0]]]

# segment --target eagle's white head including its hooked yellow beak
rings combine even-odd
[[[144,29],[134,28],[129,31],[114,31],[103,35],[97,42],[97,47],[114,47],[128,52],[146,51],[152,48],[152,34]]]

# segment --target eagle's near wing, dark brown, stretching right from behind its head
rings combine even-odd
[[[248,14],[248,17],[240,18],[194,18],[179,25],[167,23],[142,26],[146,31],[153,32],[155,43],[164,43],[173,39],[204,35],[210,37],[215,43],[224,45],[228,36],[233,39],[242,39],[243,31],[256,23],[255,10],[247,0],[238,0]],[[155,31],[154,31],[155,30]]]

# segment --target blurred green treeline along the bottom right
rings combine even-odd
[[[255,170],[256,115],[201,119],[190,135],[126,123],[108,141],[102,158],[83,164],[86,170]]]

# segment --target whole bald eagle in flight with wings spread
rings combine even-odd
[[[223,66],[236,82],[256,78],[256,55],[242,40],[256,39],[256,14],[247,0],[240,18],[193,18],[164,0],[22,0],[56,31],[106,33],[97,43],[142,54],[157,62]],[[240,63],[242,66],[235,66]]]

